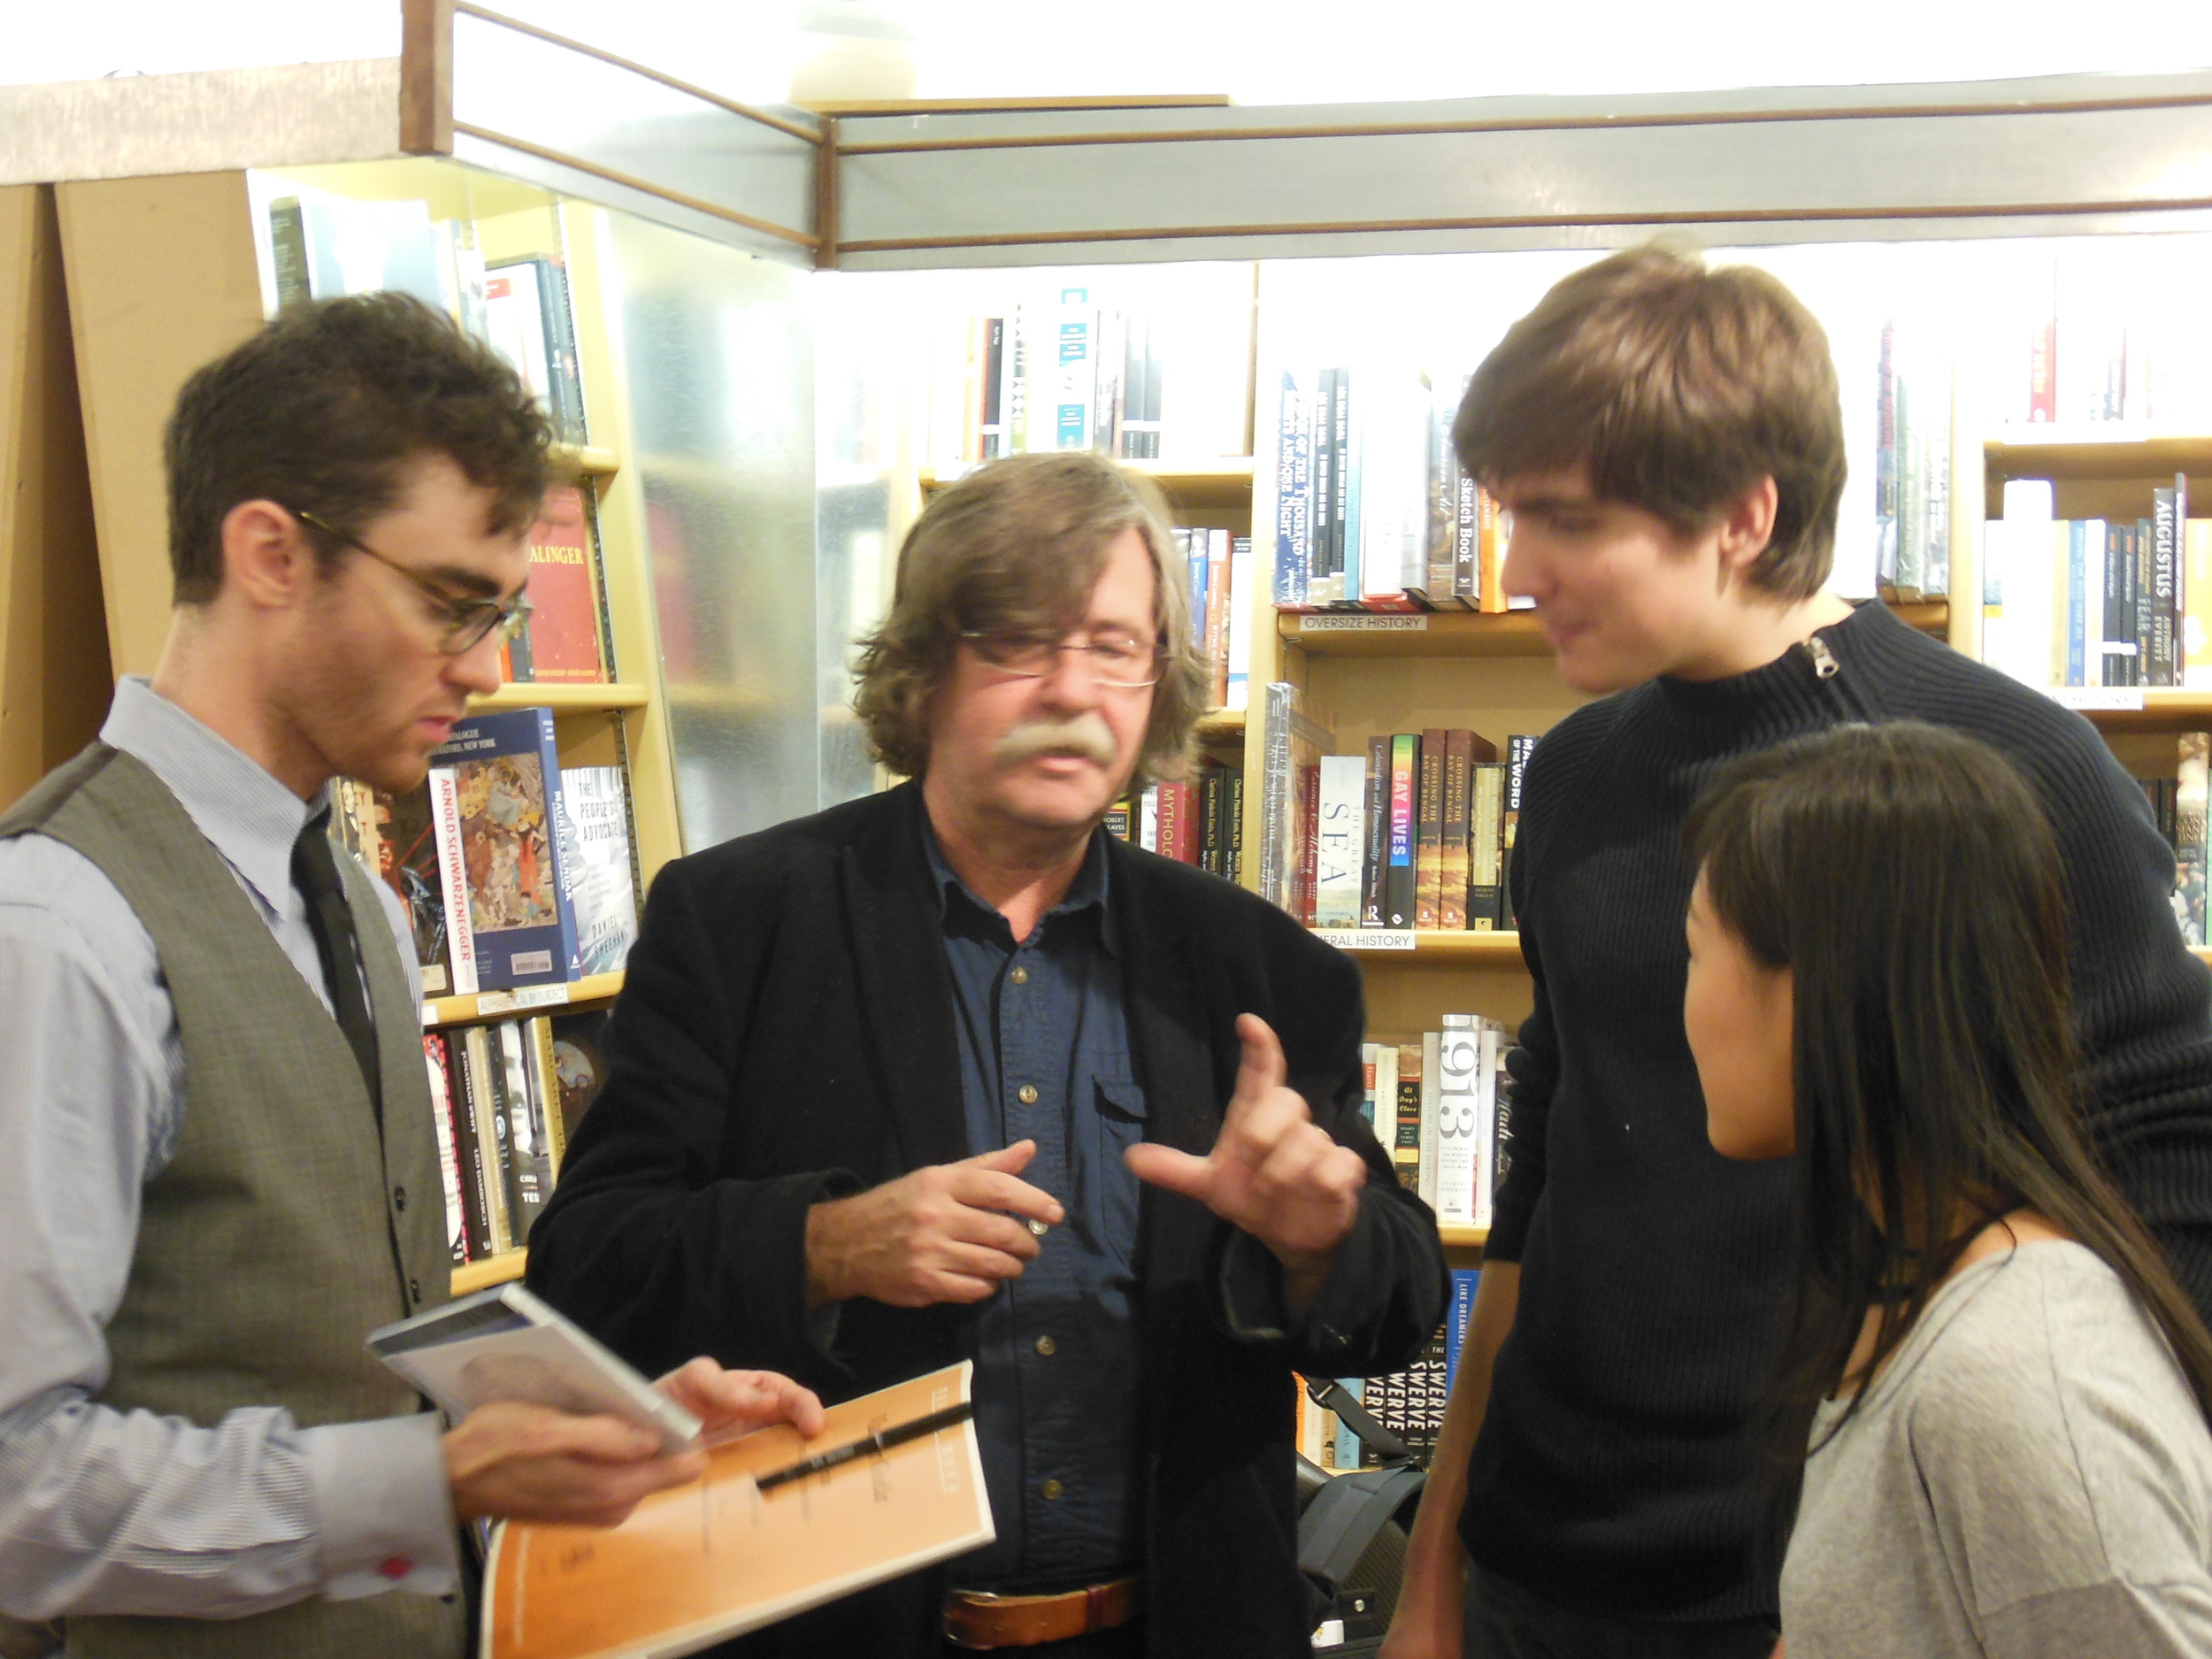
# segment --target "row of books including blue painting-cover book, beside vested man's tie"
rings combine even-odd
[[[562,770],[551,710],[462,721],[405,796],[341,783],[332,834],[407,905],[427,995],[615,973],[637,940],[622,768]]]

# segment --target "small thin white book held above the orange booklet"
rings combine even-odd
[[[524,1400],[635,1422],[668,1451],[699,1438],[699,1418],[522,1285],[493,1285],[369,1332],[369,1352],[453,1422],[493,1400]]]

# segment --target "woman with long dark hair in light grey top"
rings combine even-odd
[[[2212,1655],[2212,1336],[2079,1130],[2033,792],[1849,726],[1723,772],[1688,847],[1708,1135],[1796,1157],[1790,1659]]]

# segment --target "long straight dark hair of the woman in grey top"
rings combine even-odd
[[[1794,980],[1798,1281],[1767,1420],[1776,1520],[1867,1310],[1871,1374],[2011,1210],[2119,1274],[2212,1420],[2212,1336],[2081,1130],[2057,843],[2013,765],[1918,721],[1845,726],[1734,763],[1686,843],[1714,918]]]

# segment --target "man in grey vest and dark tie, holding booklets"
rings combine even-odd
[[[325,785],[420,783],[524,617],[546,427],[411,299],[288,312],[168,427],[153,681],[0,818],[0,1613],[71,1655],[458,1659],[456,1522],[690,1480],[613,1418],[451,1431],[376,1365],[447,1298],[420,980]],[[721,1422],[818,1402],[710,1360]]]

